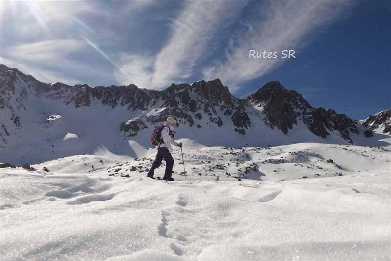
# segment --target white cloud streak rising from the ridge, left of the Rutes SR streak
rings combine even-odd
[[[172,20],[170,39],[160,52],[149,58],[130,55],[121,68],[138,80],[135,84],[150,88],[162,88],[190,77],[195,66],[207,58],[215,33],[232,24],[246,4],[247,1],[186,2]],[[142,67],[136,69],[139,64]],[[116,75],[118,80],[125,80],[120,73]]]

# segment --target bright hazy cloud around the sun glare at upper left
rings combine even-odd
[[[115,17],[126,17],[132,23],[137,20],[137,12],[156,4],[154,0],[124,1],[105,3],[102,1],[1,1],[1,16],[7,23],[1,23],[1,33],[5,34],[0,55],[8,66],[18,64],[35,72],[40,80],[74,83],[75,75],[83,72],[85,78],[111,78],[117,69],[115,59],[100,43],[113,39],[120,40],[123,26]],[[20,10],[23,16],[20,16]],[[114,15],[115,14],[115,15]],[[106,23],[96,23],[106,21]],[[114,65],[115,69],[104,65],[91,66],[88,60],[78,59],[77,54],[86,57],[92,47]],[[11,65],[14,64],[14,65]],[[31,73],[33,74],[33,73]],[[46,76],[45,76],[46,74]],[[126,73],[125,73],[126,74]],[[66,78],[65,75],[69,77]],[[54,76],[59,76],[58,80]],[[114,83],[114,82],[113,82]]]

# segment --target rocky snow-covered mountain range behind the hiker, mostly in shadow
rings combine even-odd
[[[153,127],[168,116],[180,122],[175,139],[207,146],[299,142],[388,146],[390,140],[387,133],[369,137],[373,124],[379,125],[370,124],[370,117],[360,122],[331,109],[314,108],[278,81],[239,99],[219,79],[173,83],[162,91],[134,84],[69,86],[43,83],[0,65],[3,162],[38,163],[75,154],[142,157],[152,148]],[[390,115],[383,118],[375,121],[389,122]]]

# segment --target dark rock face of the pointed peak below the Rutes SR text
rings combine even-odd
[[[285,134],[297,125],[298,119],[303,120],[312,133],[322,138],[330,135],[329,131],[335,130],[352,143],[350,132],[359,134],[356,121],[333,110],[313,108],[301,94],[285,89],[278,81],[268,82],[247,99],[255,106],[263,107],[266,124]]]

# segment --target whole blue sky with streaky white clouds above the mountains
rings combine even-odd
[[[164,89],[270,80],[354,119],[391,107],[388,0],[0,0],[0,62],[43,82]],[[296,59],[282,59],[282,50]],[[249,50],[278,58],[248,58]]]

